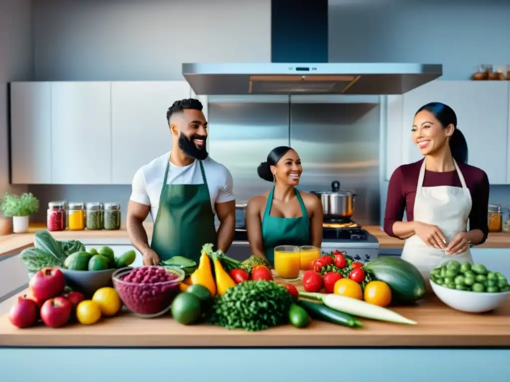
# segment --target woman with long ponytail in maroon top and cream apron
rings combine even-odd
[[[450,106],[431,102],[420,107],[412,131],[424,158],[393,173],[384,229],[405,239],[402,259],[429,280],[432,268],[448,260],[473,262],[469,248],[483,243],[489,232],[489,179],[467,164],[466,139]]]

